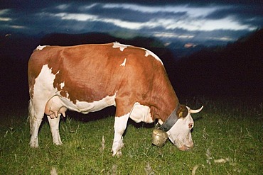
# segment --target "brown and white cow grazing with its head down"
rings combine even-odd
[[[193,147],[190,130],[198,113],[179,103],[163,62],[150,50],[120,43],[38,46],[28,61],[31,147],[48,117],[55,145],[62,145],[60,116],[65,111],[90,113],[116,106],[112,156],[122,154],[127,120],[160,123],[178,149]]]

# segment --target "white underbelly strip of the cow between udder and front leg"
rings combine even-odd
[[[62,103],[63,106],[66,106],[71,111],[77,111],[79,113],[90,113],[100,111],[108,106],[115,106],[115,95],[106,96],[100,101],[93,102],[76,101],[76,103],[73,103],[68,98],[62,96],[59,96],[56,100],[59,100],[57,103]]]

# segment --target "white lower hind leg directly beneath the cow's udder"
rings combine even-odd
[[[59,133],[60,114],[56,118],[50,118],[48,115],[48,123],[50,125],[51,134],[53,137],[53,143],[55,145],[62,145]]]

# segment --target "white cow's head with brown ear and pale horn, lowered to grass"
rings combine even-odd
[[[199,113],[203,106],[197,110],[188,106],[180,106],[177,110],[178,120],[173,127],[167,131],[168,138],[178,149],[186,151],[193,147],[193,140],[190,130],[193,128],[193,118],[191,113]]]

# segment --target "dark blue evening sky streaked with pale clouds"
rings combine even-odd
[[[260,1],[1,1],[4,33],[104,32],[232,42],[263,26]]]

